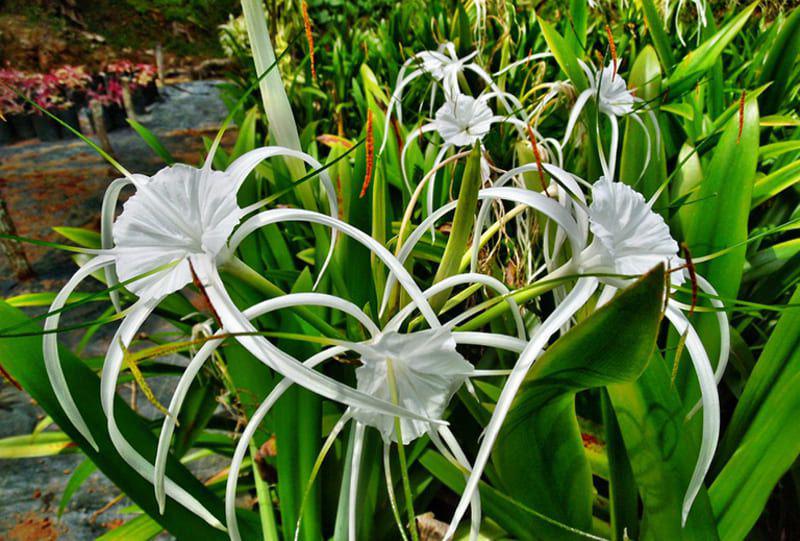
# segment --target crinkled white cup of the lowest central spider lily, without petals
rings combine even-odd
[[[356,369],[357,388],[387,402],[397,403],[430,419],[440,419],[450,399],[473,368],[456,351],[452,333],[426,330],[411,334],[382,333],[373,343],[359,347],[361,362]],[[393,387],[396,387],[393,389]],[[395,419],[355,408],[353,417],[377,428],[384,441],[397,441]],[[428,432],[429,423],[401,419],[403,444]]]

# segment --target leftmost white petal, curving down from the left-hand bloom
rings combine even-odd
[[[98,256],[89,260],[89,262],[78,269],[78,272],[76,272],[64,287],[61,288],[61,291],[58,292],[56,298],[53,300],[53,304],[50,305],[49,311],[56,312],[64,308],[69,296],[83,280],[89,277],[93,272],[113,262],[114,259],[110,256]],[[53,331],[57,329],[60,319],[60,312],[48,317],[44,322],[44,330]],[[64,371],[61,369],[61,358],[58,355],[58,333],[48,332],[44,335],[42,339],[42,355],[44,357],[44,366],[47,370],[47,377],[50,379],[50,386],[53,388],[53,393],[56,395],[56,399],[64,410],[67,419],[75,425],[78,432],[80,432],[94,450],[97,451],[98,447],[92,436],[92,431],[87,426],[86,421],[83,420],[83,416],[78,410],[78,406],[75,404],[75,400],[73,400],[72,394],[70,393],[69,385],[64,377]]]

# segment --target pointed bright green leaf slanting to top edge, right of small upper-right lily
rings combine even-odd
[[[679,95],[694,87],[695,83],[714,66],[722,51],[739,34],[757,6],[758,2],[756,1],[741,10],[716,34],[704,41],[694,51],[690,51],[681,60],[667,82],[670,94]]]

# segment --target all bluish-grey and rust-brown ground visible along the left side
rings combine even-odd
[[[167,87],[140,122],[151,129],[179,161],[198,163],[202,136],[213,137],[227,113],[213,82],[191,82]],[[226,136],[230,144],[234,133]],[[153,173],[161,160],[131,129],[111,132],[111,144],[119,161],[129,170]],[[18,233],[61,242],[53,226],[97,229],[102,193],[113,171],[83,142],[23,142],[0,147],[0,189]],[[75,270],[69,256],[38,246],[26,246],[37,277],[17,283],[7,262],[0,260],[0,296],[29,291],[52,291]],[[156,324],[157,325],[157,324]],[[99,354],[102,340],[94,344]],[[155,381],[161,396],[171,394],[174,381]],[[121,389],[123,396],[126,389]],[[128,391],[129,392],[129,391]],[[140,403],[144,402],[140,400]],[[146,402],[143,414],[155,414]],[[0,384],[0,438],[30,434],[43,412],[29,397]],[[53,429],[55,427],[52,427]],[[100,473],[93,474],[74,495],[59,519],[61,495],[74,469],[83,461],[80,453],[44,458],[0,460],[0,541],[94,539],[130,517],[123,513],[129,502],[115,503],[119,492]],[[200,478],[218,471],[220,464],[197,466]]]

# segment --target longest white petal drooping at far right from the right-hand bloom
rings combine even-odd
[[[678,334],[686,333],[686,350],[689,358],[694,365],[697,380],[700,382],[700,396],[703,402],[703,440],[700,443],[700,453],[697,457],[692,478],[689,481],[689,488],[683,498],[683,510],[681,519],[683,525],[689,517],[694,499],[703,486],[703,479],[711,467],[711,460],[714,458],[714,451],[719,441],[719,395],[717,394],[717,384],[714,381],[714,372],[711,370],[711,362],[708,359],[703,342],[695,331],[689,320],[675,307],[667,305],[667,319],[675,327]]]

